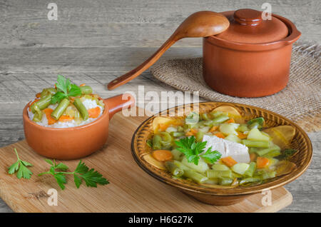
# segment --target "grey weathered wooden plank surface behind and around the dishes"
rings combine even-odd
[[[58,6],[58,20],[47,18],[47,4]],[[174,91],[149,71],[114,91],[106,83],[153,54],[185,17],[194,11],[260,9],[255,1],[234,0],[0,0],[0,146],[24,139],[24,105],[57,74],[93,86],[103,97],[138,91]],[[320,44],[318,0],[270,0],[272,12],[292,20],[300,40]],[[201,56],[201,39],[175,44],[162,59]],[[321,211],[321,133],[309,133],[314,156],[310,168],[285,188],[293,203],[283,212]],[[131,136],[131,135],[128,135]],[[4,166],[1,166],[4,169]],[[281,211],[281,212],[282,212]],[[0,199],[0,212],[11,212]]]

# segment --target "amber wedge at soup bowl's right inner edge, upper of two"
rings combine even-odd
[[[295,136],[295,127],[293,126],[276,126],[273,128],[266,128],[263,130],[272,138],[272,142],[281,149],[289,148],[290,143]]]

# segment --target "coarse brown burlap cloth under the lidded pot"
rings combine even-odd
[[[213,91],[203,80],[202,58],[160,61],[151,73],[180,91],[199,91],[201,97],[210,101],[258,106],[290,118],[305,131],[320,131],[320,52],[316,44],[294,45],[289,83],[277,94],[263,98],[238,98]]]

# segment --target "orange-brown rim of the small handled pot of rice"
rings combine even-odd
[[[105,99],[103,99],[103,101],[105,102]],[[39,129],[43,129],[43,130],[49,130],[49,131],[74,131],[77,129],[82,129],[82,128],[87,128],[88,126],[93,126],[97,123],[100,123],[102,121],[102,119],[104,117],[108,117],[108,106],[105,102],[105,107],[103,109],[103,114],[101,114],[101,116],[96,119],[95,121],[91,121],[90,123],[86,123],[83,124],[81,126],[75,126],[75,127],[68,127],[68,128],[53,128],[53,127],[46,127],[46,126],[41,126],[38,123],[35,123],[34,121],[31,121],[31,119],[28,116],[28,108],[29,108],[29,104],[31,103],[31,101],[29,101],[26,106],[24,106],[24,110],[22,111],[22,118],[24,120],[24,122],[28,122],[29,124],[31,124],[32,126],[39,128]]]

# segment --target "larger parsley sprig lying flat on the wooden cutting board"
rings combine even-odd
[[[42,176],[44,174],[51,174],[56,179],[58,185],[63,190],[65,188],[65,184],[67,183],[66,175],[73,174],[73,181],[76,184],[76,187],[79,188],[81,183],[85,181],[87,187],[97,187],[97,184],[106,185],[108,184],[108,180],[103,178],[101,173],[95,171],[93,168],[89,170],[85,163],[79,161],[78,166],[73,172],[66,172],[68,170],[68,166],[63,163],[56,164],[56,161],[51,161],[50,159],[45,159],[47,163],[51,165],[50,170],[44,173],[39,173],[38,176]]]

